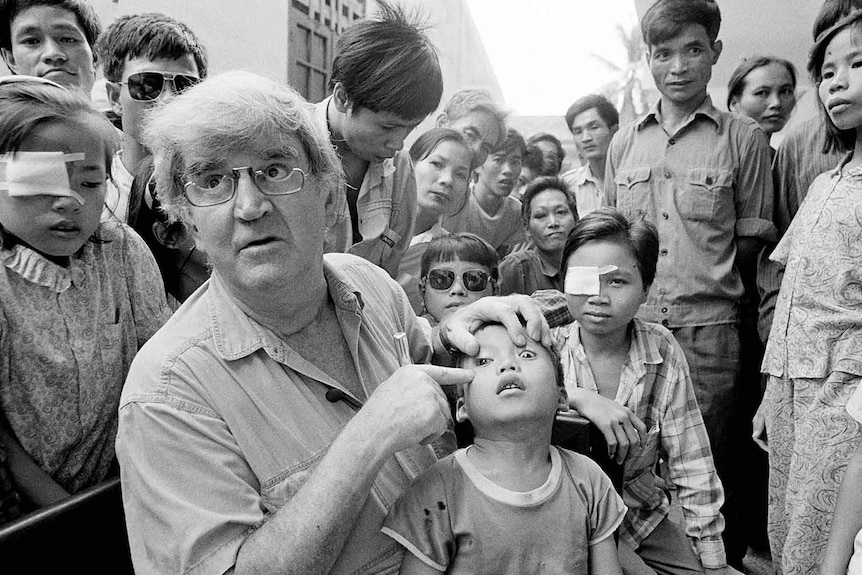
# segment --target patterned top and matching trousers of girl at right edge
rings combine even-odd
[[[770,259],[785,266],[762,371],[769,538],[785,574],[816,571],[837,490],[862,437],[862,168],[820,175]]]

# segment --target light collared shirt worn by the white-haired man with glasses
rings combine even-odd
[[[329,294],[359,381],[342,385],[243,313],[218,273],[140,351],[120,402],[117,451],[135,571],[224,573],[245,539],[287,503],[355,410],[398,367],[392,334],[415,363],[427,331],[385,272],[324,256]],[[326,361],[321,350],[317,363]],[[435,461],[430,447],[384,465],[333,574],[395,573],[401,549],[380,533],[389,507]]]

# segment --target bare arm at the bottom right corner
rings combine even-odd
[[[853,555],[853,542],[862,529],[862,445],[847,464],[835,501],[832,530],[823,553],[820,575],[844,575]]]

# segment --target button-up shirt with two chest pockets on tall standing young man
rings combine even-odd
[[[659,259],[638,315],[665,327],[736,321],[743,285],[736,240],[774,241],[769,142],[757,123],[718,111],[707,97],[675,134],[660,103],[614,135],[605,200],[639,212],[659,233]]]

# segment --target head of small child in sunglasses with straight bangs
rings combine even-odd
[[[428,242],[420,266],[422,317],[437,325],[459,307],[497,295],[500,257],[491,244],[469,232]]]

